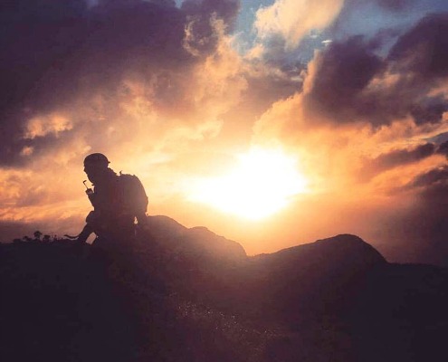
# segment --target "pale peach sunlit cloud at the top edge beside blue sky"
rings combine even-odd
[[[338,15],[343,0],[277,0],[261,7],[256,13],[254,27],[263,40],[281,36],[288,48],[293,48],[312,30],[326,28]]]

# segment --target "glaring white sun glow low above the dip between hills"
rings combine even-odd
[[[229,174],[200,180],[191,199],[225,213],[261,220],[307,192],[298,160],[281,149],[252,148],[238,157]]]

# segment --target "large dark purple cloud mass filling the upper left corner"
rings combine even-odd
[[[182,109],[187,91],[182,75],[216,46],[212,14],[232,24],[237,9],[234,0],[188,0],[182,9],[172,0],[103,0],[93,7],[84,0],[1,5],[0,165],[20,166],[32,159],[20,156],[24,147],[33,146],[37,154],[63,141],[40,139],[51,134],[24,139],[29,119],[55,110],[72,117],[86,110],[93,114],[95,92],[114,109],[117,97],[126,97],[125,79],[150,83],[156,107],[178,104]],[[195,56],[185,47],[189,24],[194,24],[194,36],[188,45],[200,51]]]

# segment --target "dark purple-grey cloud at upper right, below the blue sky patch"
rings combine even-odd
[[[407,116],[416,124],[440,122],[448,101],[429,94],[448,76],[448,14],[425,16],[386,59],[376,55],[380,43],[359,36],[332,43],[321,55],[307,96],[309,110],[338,122],[364,120],[374,126]],[[369,87],[374,78],[376,86]]]

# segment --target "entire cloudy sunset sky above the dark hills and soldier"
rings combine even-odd
[[[82,160],[148,214],[275,252],[354,233],[448,264],[444,0],[0,5],[0,234],[77,233]]]

